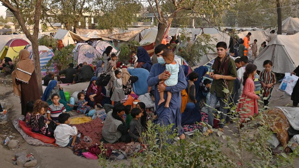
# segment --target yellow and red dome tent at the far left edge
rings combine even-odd
[[[26,45],[29,45],[29,43],[24,39],[10,39],[0,51],[0,59],[3,59],[5,56],[13,59],[14,56],[19,55],[19,52]]]

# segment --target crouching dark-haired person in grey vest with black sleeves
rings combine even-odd
[[[126,120],[123,117],[125,114],[125,106],[118,103],[113,107],[113,110],[107,113],[106,121],[102,129],[104,143],[125,142],[132,140],[128,133]]]

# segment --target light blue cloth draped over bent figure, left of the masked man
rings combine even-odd
[[[147,78],[149,77],[149,71],[144,68],[129,69],[128,72],[131,76],[137,76],[138,80],[133,83],[133,91],[137,95],[147,93]]]

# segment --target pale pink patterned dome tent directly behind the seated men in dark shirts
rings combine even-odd
[[[94,60],[99,60],[99,57],[102,57],[95,48],[91,45],[83,44],[77,47],[77,50],[73,53],[74,62],[80,64],[83,62],[87,62],[87,64],[91,64]]]

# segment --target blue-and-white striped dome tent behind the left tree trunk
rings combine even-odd
[[[33,61],[33,52],[32,52],[32,45],[27,45],[26,49],[30,52],[29,58]],[[38,46],[39,51],[39,63],[40,63],[40,69],[42,72],[42,77],[46,76],[47,69],[43,69],[45,65],[49,62],[49,60],[54,56],[54,53],[46,46],[39,45]],[[33,61],[34,62],[34,61]],[[51,71],[55,71],[53,68]]]

